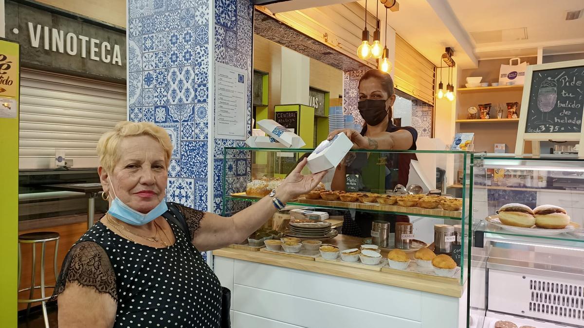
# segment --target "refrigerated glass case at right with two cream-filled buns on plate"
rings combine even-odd
[[[584,160],[474,163],[470,327],[584,327]]]

